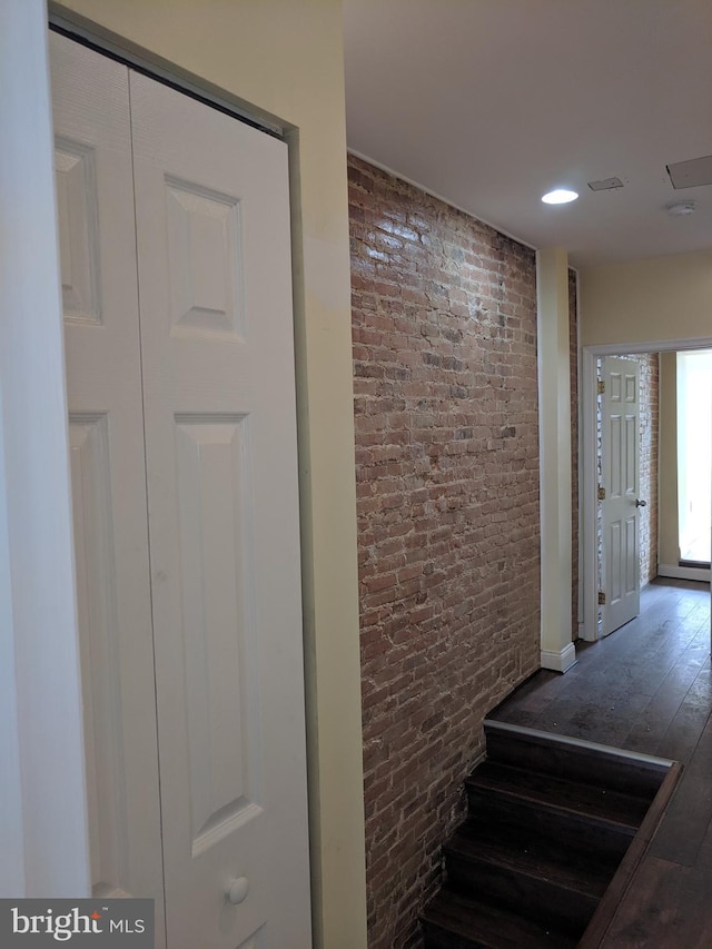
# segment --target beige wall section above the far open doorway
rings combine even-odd
[[[712,251],[581,271],[581,344],[712,336]]]

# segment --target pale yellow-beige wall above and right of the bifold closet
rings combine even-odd
[[[342,2],[66,0],[50,9],[291,127],[315,945],[365,947]]]

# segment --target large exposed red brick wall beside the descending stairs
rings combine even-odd
[[[368,943],[416,917],[538,668],[533,251],[349,159]]]

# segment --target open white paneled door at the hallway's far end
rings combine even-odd
[[[640,613],[640,372],[633,359],[603,360],[603,635]]]

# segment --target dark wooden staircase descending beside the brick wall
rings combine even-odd
[[[485,735],[426,949],[597,946],[679,765],[496,721]]]

